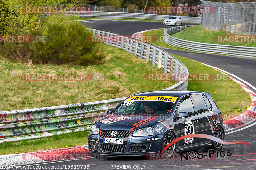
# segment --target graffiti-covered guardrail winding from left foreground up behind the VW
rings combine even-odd
[[[94,35],[119,35],[97,29],[90,29]],[[146,42],[106,42],[107,45],[122,48],[140,59],[151,61],[152,65],[163,68],[164,73],[176,73],[188,75],[187,67],[174,56],[161,48]],[[187,90],[188,81],[180,81],[177,84],[163,90]],[[80,130],[67,130],[93,124],[106,115],[107,110],[114,109],[126,97],[109,99],[96,102],[69,104],[44,108],[25,110],[13,110],[0,112],[0,140],[1,142],[18,141],[22,139],[42,138],[45,132],[60,134]],[[65,118],[58,118],[65,117]],[[67,118],[66,118],[67,117]],[[85,130],[85,128],[84,128]],[[40,134],[39,134],[40,133]],[[32,135],[36,134],[36,135]],[[20,135],[15,138],[9,138]]]

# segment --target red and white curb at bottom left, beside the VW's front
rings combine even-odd
[[[0,166],[15,167],[49,161],[89,160],[88,145],[0,156]]]

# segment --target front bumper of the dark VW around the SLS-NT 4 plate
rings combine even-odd
[[[132,136],[123,138],[123,144],[104,144],[100,135],[88,135],[89,153],[112,156],[146,156],[148,153],[159,153],[163,135]],[[147,140],[148,139],[148,140]],[[143,150],[141,150],[141,148]]]

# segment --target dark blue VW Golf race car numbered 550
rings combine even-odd
[[[126,98],[95,122],[88,136],[93,156],[146,156],[160,153],[174,139],[207,134],[224,140],[222,114],[209,93],[150,91]],[[222,144],[206,138],[185,138],[168,150],[220,150]]]

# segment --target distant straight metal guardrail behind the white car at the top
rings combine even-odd
[[[127,12],[97,12],[88,14],[72,14],[72,18],[105,18],[105,19],[153,19],[163,21],[168,15],[127,13]],[[201,17],[181,16],[182,22],[201,23]]]

